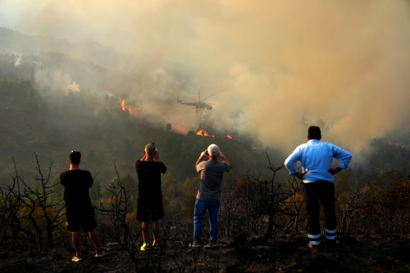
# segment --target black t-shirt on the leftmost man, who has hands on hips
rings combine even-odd
[[[61,173],[60,183],[64,186],[66,206],[73,208],[91,206],[88,189],[93,184],[93,178],[89,171],[69,170]]]

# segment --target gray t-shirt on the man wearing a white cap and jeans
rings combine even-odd
[[[227,162],[211,160],[199,162],[196,165],[196,171],[201,174],[197,198],[202,201],[220,200],[222,176],[230,169]]]

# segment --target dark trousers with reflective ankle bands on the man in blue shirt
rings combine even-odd
[[[308,236],[320,241],[320,204],[324,211],[326,233],[330,230],[336,236],[334,183],[324,180],[319,180],[314,183],[305,183],[303,196],[305,200],[306,231],[308,232]]]

